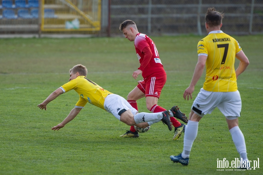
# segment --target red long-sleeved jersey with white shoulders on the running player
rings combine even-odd
[[[147,77],[166,75],[153,40],[151,40],[146,34],[139,33],[134,39],[134,46],[137,57],[141,64],[138,69],[143,71],[142,76],[144,79]],[[150,50],[153,54],[152,58],[144,58],[144,53],[142,50],[147,46],[150,47]]]

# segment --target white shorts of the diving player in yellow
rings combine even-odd
[[[120,115],[127,110],[131,110],[133,115],[138,113],[127,100],[117,94],[110,94],[105,98],[104,109],[113,114],[118,120],[120,120]]]

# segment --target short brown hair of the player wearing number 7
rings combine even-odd
[[[222,19],[224,18],[224,13],[220,13],[216,11],[214,7],[208,8],[205,13],[205,22],[209,27],[218,26],[222,23]]]

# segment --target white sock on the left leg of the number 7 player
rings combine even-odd
[[[182,157],[185,159],[190,156],[190,151],[193,146],[193,142],[197,136],[199,122],[193,122],[188,120],[188,123],[184,131],[184,150],[182,152]]]

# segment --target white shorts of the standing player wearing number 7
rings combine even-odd
[[[239,91],[210,92],[201,88],[193,102],[192,110],[200,117],[203,117],[206,114],[211,114],[217,107],[226,117],[240,117],[241,106]]]

